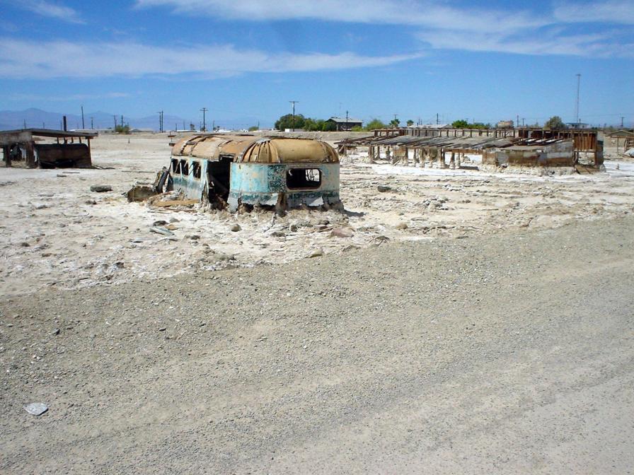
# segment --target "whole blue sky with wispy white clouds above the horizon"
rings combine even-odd
[[[0,0],[0,110],[634,120],[634,1]]]

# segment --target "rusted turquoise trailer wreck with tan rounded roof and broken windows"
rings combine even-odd
[[[217,208],[340,207],[339,156],[313,139],[196,135],[174,144],[168,189]]]

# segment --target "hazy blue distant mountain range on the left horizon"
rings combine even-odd
[[[46,112],[40,109],[26,110],[0,110],[0,130],[14,129],[61,129],[62,117],[66,115],[67,127],[81,129],[81,115],[62,114],[59,112]],[[117,124],[121,122],[121,116],[116,116]],[[234,127],[237,129],[248,128],[257,122],[253,117],[244,117],[231,120],[217,120],[215,123],[221,127]],[[159,130],[159,114],[149,117],[123,117],[123,123],[129,124],[132,129]],[[108,112],[86,112],[83,115],[83,128],[85,129],[113,129],[115,127],[115,115]],[[194,122],[195,127],[200,123]],[[176,115],[163,116],[163,130],[189,129],[190,121]],[[212,120],[207,122],[207,128],[212,127]]]

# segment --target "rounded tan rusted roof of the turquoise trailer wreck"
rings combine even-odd
[[[339,156],[328,143],[316,139],[286,137],[195,135],[172,148],[173,156],[219,160],[229,156],[241,163],[338,163]]]

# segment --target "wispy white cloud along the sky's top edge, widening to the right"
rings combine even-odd
[[[632,0],[560,0],[553,8],[539,11],[512,5],[452,6],[451,2],[437,0],[365,0],[362,6],[340,0],[137,0],[137,6],[163,6],[184,14],[241,21],[306,19],[408,25],[419,27],[413,34],[435,49],[632,57],[627,45],[619,40],[624,32],[618,28],[594,34],[580,30],[582,26],[578,25],[597,21],[615,27],[634,24]],[[593,27],[596,31],[596,25]]]

